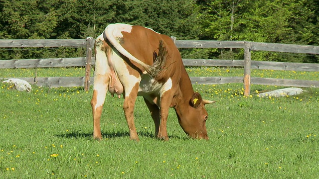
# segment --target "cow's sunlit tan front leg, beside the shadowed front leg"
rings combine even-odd
[[[158,138],[163,139],[165,141],[168,141],[166,122],[171,98],[172,93],[170,91],[166,91],[160,96],[160,131]]]

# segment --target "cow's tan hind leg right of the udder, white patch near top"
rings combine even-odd
[[[132,88],[132,90],[125,89],[125,99],[123,104],[125,118],[128,122],[128,127],[130,130],[130,139],[136,141],[140,140],[134,124],[134,106],[138,94],[138,89],[138,83]]]

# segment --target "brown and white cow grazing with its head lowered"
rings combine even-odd
[[[143,96],[155,123],[158,138],[168,140],[169,107],[176,111],[184,132],[208,139],[204,100],[194,92],[180,53],[170,37],[152,29],[128,24],[110,24],[95,41],[93,137],[101,139],[100,117],[107,90],[124,96],[123,109],[130,139],[139,140],[134,124],[134,105]]]

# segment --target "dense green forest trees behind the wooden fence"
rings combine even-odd
[[[319,0],[0,0],[0,39],[96,38],[110,23],[177,40],[319,45]],[[243,59],[242,49],[181,49],[183,58]],[[0,59],[85,56],[83,48],[1,48]],[[318,63],[313,54],[254,52],[252,60]]]

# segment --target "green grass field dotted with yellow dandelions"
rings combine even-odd
[[[191,76],[242,76],[237,68],[187,68]],[[32,74],[33,73],[33,74]],[[3,69],[1,77],[28,77],[34,70]],[[38,77],[83,76],[84,69],[38,69]],[[318,72],[253,71],[252,76],[318,80]],[[123,99],[107,95],[104,140],[92,139],[92,89],[0,88],[0,179],[114,178],[318,178],[319,89],[299,96],[258,98],[282,87],[242,84],[194,85],[206,99],[210,139],[191,140],[171,109],[169,141],[154,137],[143,98],[136,102],[140,142],[130,141]]]

